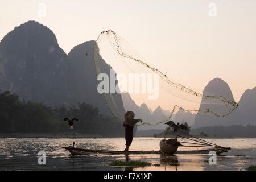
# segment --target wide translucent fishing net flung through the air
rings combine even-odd
[[[93,53],[98,92],[103,94],[110,111],[120,122],[125,121],[124,114],[129,110],[134,111],[135,118],[143,119],[138,126],[152,126],[172,118],[179,109],[224,117],[238,106],[225,97],[203,96],[172,82],[111,30],[101,32]],[[121,94],[122,100],[117,94]]]

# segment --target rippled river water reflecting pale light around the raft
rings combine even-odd
[[[159,150],[162,138],[135,137],[130,150]],[[179,139],[182,140],[182,139]],[[143,160],[160,166],[133,168],[133,170],[244,170],[256,165],[256,138],[205,139],[220,146],[231,147],[217,156],[217,164],[210,165],[208,155],[129,155],[129,160]],[[185,141],[185,139],[183,139]],[[0,141],[0,170],[125,170],[131,168],[110,167],[113,160],[126,160],[125,155],[93,154],[71,156],[63,146],[71,146],[67,138],[2,138]],[[124,138],[80,138],[76,147],[98,150],[124,150]],[[189,148],[192,149],[192,148]],[[38,164],[38,152],[46,152],[46,165]],[[179,147],[178,150],[188,150]],[[196,150],[193,148],[192,150]],[[245,156],[235,156],[245,155]]]

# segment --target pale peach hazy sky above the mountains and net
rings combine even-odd
[[[38,5],[45,3],[46,16]],[[217,5],[209,16],[209,3]],[[112,29],[144,60],[175,82],[201,92],[215,77],[228,82],[238,102],[256,86],[256,1],[0,1],[0,40],[36,20],[68,53]]]

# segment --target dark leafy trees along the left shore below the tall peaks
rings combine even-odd
[[[79,103],[77,107],[49,107],[43,103],[20,101],[17,94],[0,93],[0,133],[70,133],[63,118],[78,118],[76,133],[101,136],[123,136],[122,123],[101,114],[97,107]]]

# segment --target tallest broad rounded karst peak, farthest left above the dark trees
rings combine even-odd
[[[55,34],[29,21],[15,27],[0,42],[0,89],[47,105],[65,102],[66,54]]]

